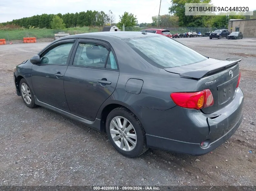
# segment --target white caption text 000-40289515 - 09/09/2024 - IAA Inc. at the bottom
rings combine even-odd
[[[160,190],[155,186],[93,186],[94,190]]]

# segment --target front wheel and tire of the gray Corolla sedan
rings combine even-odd
[[[29,108],[37,107],[32,89],[29,87],[28,82],[24,78],[21,79],[19,88],[22,100],[25,105]]]

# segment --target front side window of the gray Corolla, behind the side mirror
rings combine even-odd
[[[41,64],[67,64],[68,55],[73,43],[62,43],[46,50],[41,57]]]

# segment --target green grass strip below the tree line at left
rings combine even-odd
[[[15,30],[0,30],[0,39],[5,40],[23,40],[23,37],[36,37],[40,38],[54,38],[54,34],[58,32],[65,32],[72,34],[80,33],[90,33],[90,32],[99,32],[102,31],[101,27],[75,27],[75,28],[66,28],[63,30],[54,30],[54,29],[25,29],[19,28]]]

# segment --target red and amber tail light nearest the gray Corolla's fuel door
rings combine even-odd
[[[210,107],[214,103],[211,90],[209,89],[199,92],[174,92],[170,96],[176,105],[188,109],[200,110]]]

